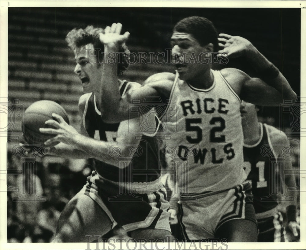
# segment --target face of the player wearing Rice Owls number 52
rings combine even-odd
[[[191,34],[174,31],[171,37],[171,47],[173,64],[181,80],[192,81],[201,78],[203,71],[209,68],[207,48],[201,46]]]

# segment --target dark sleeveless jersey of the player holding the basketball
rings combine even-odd
[[[129,86],[130,85],[130,86]],[[120,94],[124,94],[126,89],[133,83],[124,82],[120,86]],[[119,123],[109,124],[101,119],[101,112],[95,103],[95,95],[92,93],[85,105],[83,115],[83,124],[91,138],[105,142],[114,142],[117,137]],[[126,133],[129,133],[127,128]],[[135,136],[137,136],[135,134]],[[115,145],[115,144],[114,144]],[[125,168],[119,169],[105,162],[95,159],[95,168],[104,178],[115,182],[151,182],[159,178],[159,161],[158,161],[158,141],[153,136],[142,135],[140,144],[135,150],[132,162]],[[120,157],[118,164],[120,164]],[[122,162],[126,160],[122,159]]]

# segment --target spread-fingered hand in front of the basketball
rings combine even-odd
[[[52,114],[52,117],[54,117],[56,120],[47,120],[45,123],[48,125],[51,125],[54,128],[39,128],[39,131],[44,134],[54,134],[56,136],[50,138],[45,142],[46,147],[53,147],[54,145],[58,144],[59,142],[63,142],[69,145],[75,144],[75,138],[76,135],[79,133],[76,131],[76,129],[72,126],[70,126],[68,123],[65,122],[65,120],[62,118],[62,116],[59,116],[58,114]]]

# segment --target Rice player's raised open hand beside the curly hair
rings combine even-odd
[[[122,43],[128,38],[130,33],[127,31],[123,35],[120,35],[122,29],[121,23],[113,23],[112,26],[107,26],[104,30],[104,34],[100,33],[100,41],[104,46],[112,49],[114,52],[118,52]]]

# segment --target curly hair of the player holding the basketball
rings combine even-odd
[[[100,33],[104,34],[103,28],[95,28],[92,25],[87,26],[86,28],[74,28],[71,30],[66,36],[66,42],[68,43],[68,47],[75,51],[82,46],[85,46],[89,43],[92,43],[95,49],[101,49],[100,52],[103,53],[104,45],[100,42]],[[129,54],[129,49],[125,45],[122,44],[119,53],[122,54],[122,60],[120,64],[118,64],[118,75],[122,75],[123,71],[125,71],[129,64],[126,60],[126,56]]]

